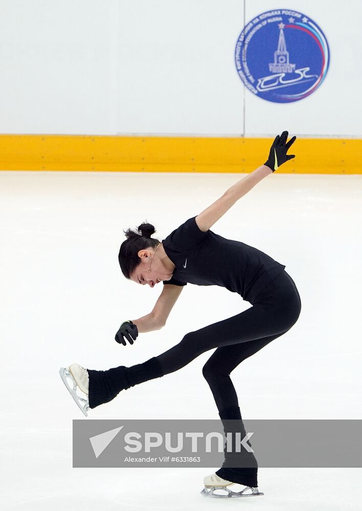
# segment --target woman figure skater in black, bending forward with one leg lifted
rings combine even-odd
[[[117,342],[133,344],[139,333],[160,330],[165,326],[187,283],[225,287],[240,294],[253,307],[187,333],[165,353],[141,364],[131,367],[121,365],[104,371],[85,369],[79,364],[62,367],[60,375],[85,415],[89,408],[111,401],[121,390],[173,373],[201,353],[217,348],[203,366],[202,374],[213,393],[225,433],[241,432],[243,438],[245,429],[230,373],[240,362],[290,330],[300,315],[301,300],[285,265],[254,247],[222,238],[210,228],[259,181],[295,157],[286,153],[296,136],[288,143],[287,138],[287,131],[277,135],[264,165],[244,176],[205,211],[186,220],[162,242],[151,238],[155,229],[148,223],[139,226],[141,234],[130,229],[124,231],[127,240],[122,243],[119,252],[123,275],[138,285],[152,288],[162,281],[163,290],[152,313],[121,324],[116,334]],[[79,397],[77,388],[85,394],[85,398]],[[262,495],[258,491],[258,466],[253,453],[244,455],[242,462],[239,453],[236,459],[240,463],[235,466],[235,461],[234,464],[229,462],[235,453],[229,456],[224,452],[222,467],[204,479],[205,488],[201,493],[220,496],[215,491],[224,488],[228,492],[227,497]],[[246,488],[232,492],[228,488],[232,484],[242,484]]]

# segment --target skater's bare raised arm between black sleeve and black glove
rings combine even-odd
[[[233,206],[238,199],[254,188],[259,181],[269,174],[273,174],[273,171],[269,169],[269,167],[262,165],[233,184],[222,197],[197,215],[195,221],[198,228],[206,233],[214,223],[230,210],[231,206]]]

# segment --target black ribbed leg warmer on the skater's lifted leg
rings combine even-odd
[[[96,408],[96,406],[111,401],[121,390],[164,376],[157,357],[131,367],[120,365],[106,371],[93,369],[87,369],[87,371],[89,375],[89,408]]]

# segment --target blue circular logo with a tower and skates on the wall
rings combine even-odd
[[[312,94],[325,79],[329,61],[320,27],[305,14],[287,9],[256,16],[244,27],[235,48],[236,68],[245,86],[274,103]]]

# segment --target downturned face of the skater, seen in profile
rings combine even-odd
[[[146,248],[139,251],[138,256],[141,259],[141,263],[133,270],[133,273],[130,274],[132,281],[142,286],[148,284],[150,287],[154,287],[161,281],[170,280],[175,265],[162,250],[162,245],[153,258],[154,253],[155,249],[153,248]],[[151,268],[151,271],[146,271],[147,268]]]

